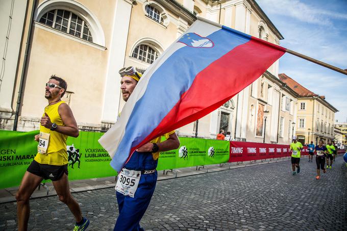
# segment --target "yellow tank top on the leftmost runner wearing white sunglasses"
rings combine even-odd
[[[47,113],[48,117],[51,119],[52,123],[64,126],[64,122],[58,113],[58,107],[64,104],[65,101],[59,101],[54,105],[47,105],[44,108],[44,112]],[[44,116],[44,113],[43,115]],[[67,151],[66,151],[66,139],[67,136],[56,131],[51,131],[40,124],[40,132],[49,133],[49,142],[45,154],[37,153],[35,156],[35,161],[40,164],[50,164],[50,165],[65,165],[67,161]]]

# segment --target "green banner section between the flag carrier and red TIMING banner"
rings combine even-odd
[[[160,152],[157,170],[226,163],[229,141],[179,137],[180,147]]]

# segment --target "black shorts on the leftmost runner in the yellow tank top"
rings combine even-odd
[[[59,179],[65,173],[68,174],[67,164],[66,165],[49,165],[49,164],[39,164],[35,160],[29,165],[28,172],[35,175],[41,176],[44,179],[51,179],[51,181],[59,181]]]

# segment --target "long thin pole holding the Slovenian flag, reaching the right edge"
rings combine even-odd
[[[247,35],[247,34],[245,34],[245,33],[243,33],[243,32],[237,31],[237,30],[232,29],[232,28],[225,27],[225,26],[223,26],[223,25],[221,25],[221,24],[219,24],[219,23],[216,23],[216,22],[214,22],[214,21],[210,21],[210,20],[208,20],[208,19],[206,19],[206,18],[202,18],[202,17],[199,17],[199,16],[196,17],[196,18],[197,18],[198,20],[201,20],[201,21],[210,23],[210,24],[212,24],[212,25],[215,25],[216,27],[224,28],[225,30],[232,31],[232,32],[237,33],[237,34],[239,34],[239,35],[241,35],[241,36],[252,37],[252,36]],[[254,39],[254,37],[253,37],[253,39]],[[267,41],[265,41],[265,40],[261,40],[261,39],[258,39],[258,38],[255,38],[255,39],[258,40],[259,42],[262,42],[262,43],[264,43],[264,44],[268,44],[268,45],[270,45],[270,46],[277,46],[277,45],[275,45],[274,43],[270,43],[270,42],[267,42]],[[346,70],[343,70],[343,69],[341,69],[341,68],[338,68],[338,67],[332,66],[332,65],[330,65],[330,64],[321,62],[321,61],[319,61],[319,60],[313,59],[313,58],[311,58],[311,57],[305,56],[305,55],[300,54],[300,53],[298,53],[298,52],[294,52],[293,50],[290,50],[290,49],[287,49],[287,48],[284,48],[284,47],[281,47],[281,46],[277,46],[277,47],[279,47],[281,50],[282,50],[282,49],[285,49],[285,52],[286,52],[286,53],[289,53],[289,54],[291,54],[291,55],[297,56],[297,57],[302,58],[302,59],[306,59],[306,60],[308,60],[308,61],[310,61],[310,62],[312,62],[312,63],[318,64],[318,65],[320,65],[320,66],[327,67],[327,68],[329,68],[329,69],[332,69],[332,70],[335,70],[335,71],[337,71],[337,72],[340,72],[340,73],[342,73],[342,74],[347,75],[347,69],[346,69]]]

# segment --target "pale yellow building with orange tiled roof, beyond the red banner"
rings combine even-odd
[[[334,140],[334,119],[338,112],[323,95],[317,95],[295,82],[286,74],[279,74],[280,80],[299,94],[298,118],[296,119],[296,133],[298,140],[307,144],[319,140]]]

